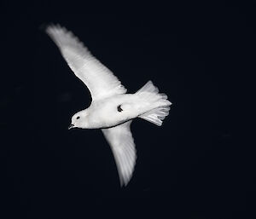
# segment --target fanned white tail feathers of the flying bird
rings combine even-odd
[[[151,81],[148,81],[141,89],[137,91],[138,95],[144,95],[150,102],[152,109],[148,110],[139,116],[150,123],[161,126],[163,120],[168,116],[172,103],[167,100],[166,94],[160,94],[159,89],[154,86]]]

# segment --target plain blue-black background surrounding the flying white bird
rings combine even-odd
[[[3,6],[2,218],[255,216],[255,150],[247,131],[255,99],[248,98],[253,6]],[[172,101],[163,126],[131,124],[137,165],[127,187],[119,187],[100,130],[67,130],[73,113],[89,107],[90,94],[44,33],[51,22],[74,32],[129,92],[150,79]]]

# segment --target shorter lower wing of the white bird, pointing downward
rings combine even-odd
[[[113,157],[119,171],[121,186],[131,180],[132,172],[136,164],[136,148],[130,130],[131,121],[119,124],[113,128],[103,129],[113,152]]]

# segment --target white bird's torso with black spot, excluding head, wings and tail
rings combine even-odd
[[[156,107],[156,101],[145,98],[152,94],[113,95],[99,101],[92,101],[90,107],[84,110],[87,119],[84,129],[110,128],[125,121],[137,118]],[[158,96],[155,96],[157,98]],[[120,109],[120,110],[119,110]]]

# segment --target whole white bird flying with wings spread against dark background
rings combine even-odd
[[[143,118],[160,126],[172,103],[151,81],[135,94],[126,94],[113,72],[96,60],[72,32],[60,25],[48,26],[46,32],[61,50],[67,65],[90,90],[90,107],[73,115],[69,129],[102,129],[113,151],[120,185],[126,186],[137,158],[130,129],[132,119]]]

